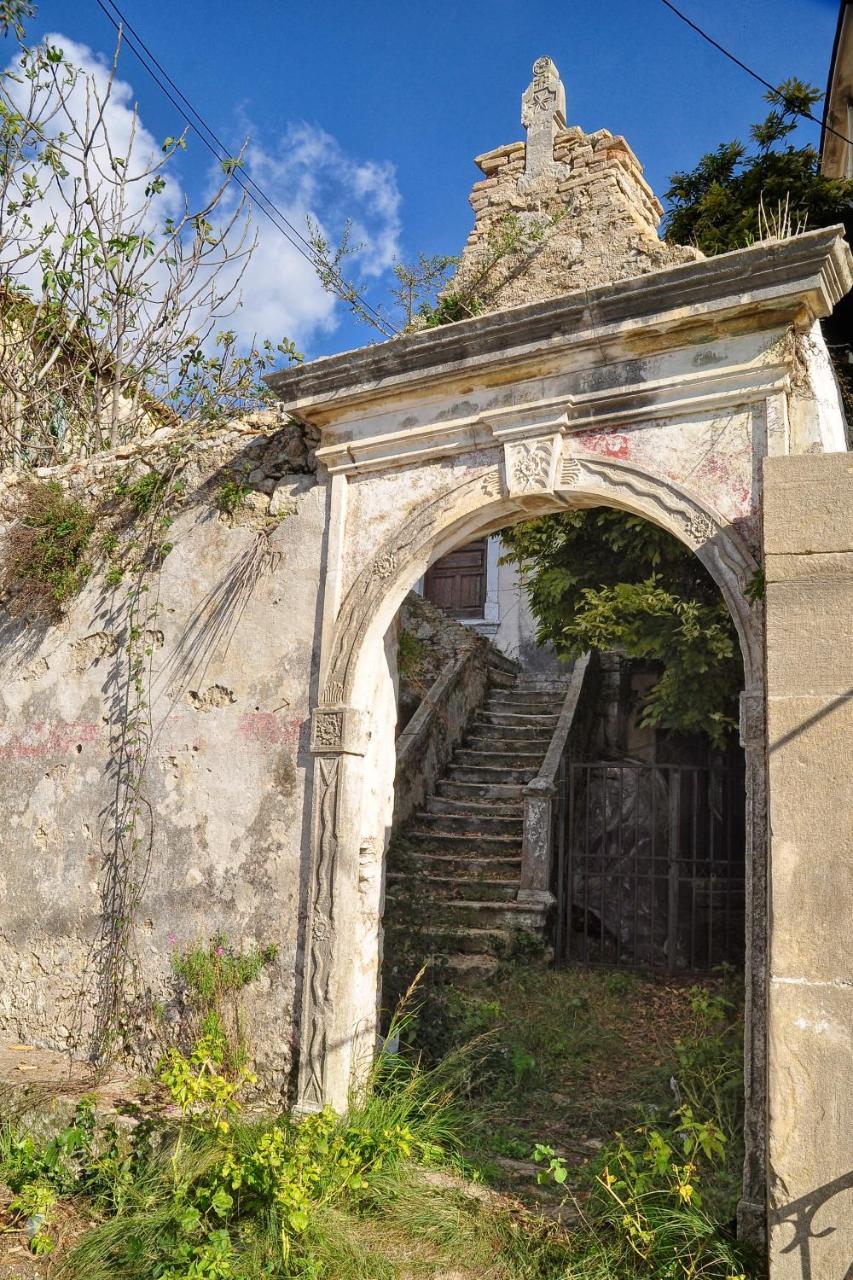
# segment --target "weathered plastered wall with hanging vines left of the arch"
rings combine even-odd
[[[167,1019],[177,1016],[173,946],[216,929],[237,945],[278,946],[277,964],[248,992],[270,1087],[283,1087],[291,1066],[328,518],[311,440],[280,422],[238,424],[192,447],[169,530],[174,545],[150,576],[156,608],[142,790],[154,822],[133,940],[142,1055],[146,1044],[154,1051],[146,1002],[161,1001]],[[96,500],[99,521],[109,522],[117,477],[156,465],[169,443],[164,433],[142,451],[56,475]],[[224,479],[251,485],[233,515],[215,507]],[[5,476],[0,493],[6,527],[15,480]],[[133,538],[132,522],[124,536]],[[0,553],[1,545],[0,534]],[[92,948],[127,686],[128,588],[108,586],[104,568],[56,626],[0,613],[0,1036],[78,1050],[97,1000]],[[26,599],[10,604],[20,613]]]

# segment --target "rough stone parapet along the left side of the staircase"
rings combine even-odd
[[[397,739],[394,827],[435,790],[435,782],[462,737],[467,719],[485,696],[488,657],[473,644],[451,658]]]

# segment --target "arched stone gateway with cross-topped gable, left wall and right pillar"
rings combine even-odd
[[[853,284],[853,260],[840,228],[710,260],[666,246],[630,147],[566,127],[547,58],[523,124],[526,146],[479,157],[451,284],[485,274],[482,314],[274,375],[316,468],[313,456],[279,470],[251,520],[211,513],[204,494],[259,440],[274,452],[278,424],[199,445],[160,573],[140,970],[163,984],[170,931],[277,942],[254,1010],[260,1068],[283,1087],[292,1044],[300,1105],[345,1106],[375,1048],[384,881],[364,869],[380,865],[393,815],[394,614],[443,554],[516,521],[596,506],[643,516],[713,576],[743,653],[742,1231],[768,1225],[774,1280],[843,1280],[853,460],[818,321]],[[59,477],[85,485],[128,465]],[[15,479],[4,484],[10,511]],[[259,532],[272,504],[286,518]],[[0,623],[0,1027],[44,1044],[74,1033],[97,932],[119,630],[96,581],[56,627]]]

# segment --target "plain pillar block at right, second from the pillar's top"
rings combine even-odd
[[[766,607],[771,692],[841,694],[853,689],[853,573],[770,581]]]

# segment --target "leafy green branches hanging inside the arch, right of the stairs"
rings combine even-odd
[[[678,539],[620,511],[571,511],[502,534],[539,640],[565,658],[616,649],[660,663],[640,723],[703,732],[724,746],[736,726],[740,650],[711,576]]]

